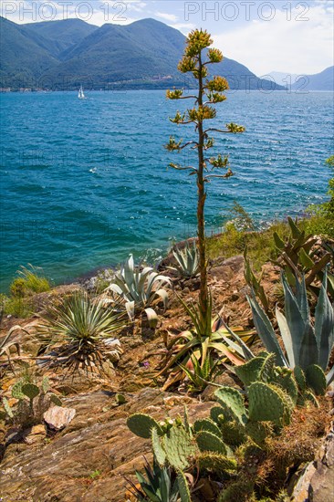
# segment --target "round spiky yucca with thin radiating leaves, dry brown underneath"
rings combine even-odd
[[[48,346],[57,345],[51,365],[96,371],[103,370],[107,359],[119,359],[120,342],[110,338],[124,325],[124,312],[117,306],[106,309],[102,299],[94,301],[78,291],[60,306],[49,308],[39,329]]]

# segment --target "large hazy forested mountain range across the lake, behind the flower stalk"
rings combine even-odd
[[[0,88],[166,89],[193,87],[177,71],[183,34],[154,19],[92,26],[79,19],[17,25],[0,17]],[[231,89],[284,89],[229,58],[214,74]]]

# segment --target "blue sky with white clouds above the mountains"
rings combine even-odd
[[[127,25],[152,17],[184,35],[202,27],[226,58],[259,77],[314,74],[334,64],[333,0],[1,0],[0,13],[19,24],[74,17]]]

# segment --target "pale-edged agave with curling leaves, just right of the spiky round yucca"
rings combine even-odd
[[[123,301],[131,320],[137,311],[145,311],[150,325],[154,328],[158,322],[158,316],[152,304],[158,298],[162,299],[164,309],[168,305],[168,293],[162,288],[162,284],[172,287],[171,279],[155,272],[151,267],[140,270],[134,266],[133,256],[115,274],[113,283],[107,288],[116,293]]]

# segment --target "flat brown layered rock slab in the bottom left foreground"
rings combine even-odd
[[[193,422],[207,417],[212,402],[199,403],[158,389],[126,394],[128,403],[115,405],[110,392],[68,398],[77,413],[48,444],[10,444],[0,464],[3,502],[123,502],[135,469],[151,460],[151,441],[132,434],[130,413],[150,413],[161,420],[183,415],[187,404]],[[98,476],[93,473],[99,473]]]

